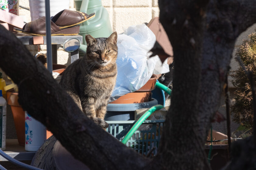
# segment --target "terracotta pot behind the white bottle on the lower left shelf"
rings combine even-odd
[[[12,90],[6,92],[7,104],[11,106],[19,145],[25,146],[25,111],[19,104],[18,98],[18,93],[14,93]],[[52,133],[46,131],[46,138],[48,139],[50,136]]]

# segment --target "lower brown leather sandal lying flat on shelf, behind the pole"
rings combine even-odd
[[[23,29],[14,28],[14,31],[30,34],[34,36],[45,36],[46,35],[46,22],[45,17],[41,17],[34,21],[28,22],[23,26]],[[79,33],[80,25],[71,26],[68,28],[61,29],[54,22],[51,21],[51,35],[52,36],[73,36]]]

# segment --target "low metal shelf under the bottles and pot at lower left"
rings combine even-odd
[[[18,139],[6,139],[6,149],[4,151],[7,155],[15,158],[18,161],[32,160],[36,152],[25,151],[24,146],[20,146]],[[0,156],[0,161],[7,161],[5,158]]]

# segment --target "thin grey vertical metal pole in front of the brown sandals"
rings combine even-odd
[[[51,40],[51,18],[50,0],[45,0],[45,21],[46,21],[46,46],[47,46],[47,70],[52,73],[52,40]]]

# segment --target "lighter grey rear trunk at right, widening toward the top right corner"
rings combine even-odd
[[[255,0],[211,0],[208,5],[199,101],[201,140],[205,140],[210,121],[219,108],[236,38],[256,22],[255,8]]]

